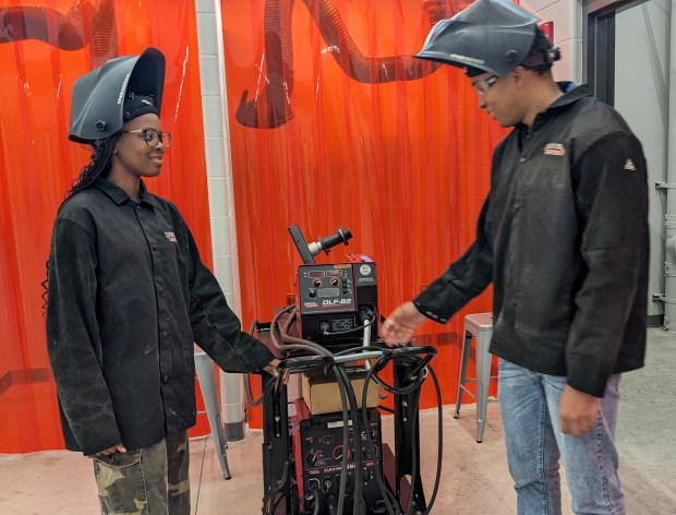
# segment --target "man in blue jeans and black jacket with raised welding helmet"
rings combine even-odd
[[[624,514],[614,435],[619,374],[643,366],[648,194],[641,145],[587,86],[554,82],[538,20],[478,0],[418,55],[461,68],[482,109],[514,127],[493,156],[476,240],[383,324],[389,345],[445,323],[494,285],[491,352],[518,513]]]

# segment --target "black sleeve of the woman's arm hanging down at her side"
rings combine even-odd
[[[49,259],[47,350],[68,426],[83,454],[122,442],[101,372],[96,249],[68,219],[55,224]]]

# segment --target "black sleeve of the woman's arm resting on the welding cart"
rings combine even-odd
[[[226,372],[258,372],[274,356],[241,328],[216,277],[200,260],[195,240],[185,227],[190,260],[190,320],[195,343]]]

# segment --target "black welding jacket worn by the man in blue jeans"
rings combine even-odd
[[[446,322],[493,283],[491,352],[600,397],[643,364],[648,238],[641,145],[578,86],[497,146],[476,240],[414,303]]]

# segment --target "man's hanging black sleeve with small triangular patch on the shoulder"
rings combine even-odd
[[[574,164],[588,272],[575,297],[566,348],[568,384],[602,397],[648,266],[648,181],[641,144],[629,133],[594,143]]]

